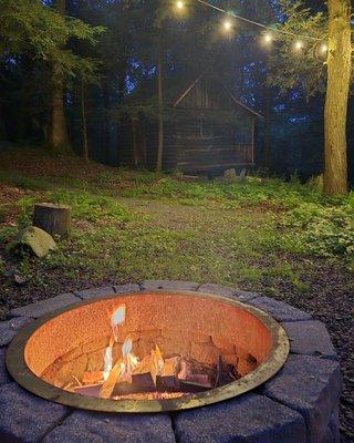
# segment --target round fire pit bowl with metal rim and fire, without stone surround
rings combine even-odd
[[[268,313],[202,292],[139,291],[70,306],[14,338],[8,369],[58,403],[114,412],[197,408],[262,384],[289,341]]]

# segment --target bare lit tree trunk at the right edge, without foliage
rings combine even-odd
[[[346,117],[351,78],[351,2],[329,0],[327,90],[324,111],[327,195],[347,193]]]

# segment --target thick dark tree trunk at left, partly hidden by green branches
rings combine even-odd
[[[58,0],[56,9],[60,14],[65,14],[66,0]],[[65,82],[58,66],[53,66],[52,115],[50,128],[50,143],[54,147],[67,146],[67,127],[64,104]]]

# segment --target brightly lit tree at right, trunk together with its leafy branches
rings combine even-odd
[[[279,34],[284,44],[280,56],[273,56],[271,82],[283,90],[300,85],[308,96],[325,95],[324,109],[324,192],[347,192],[346,116],[351,81],[351,3],[329,0],[326,16],[313,12],[301,1],[280,1],[290,32]],[[294,50],[294,38],[308,35],[304,48]]]

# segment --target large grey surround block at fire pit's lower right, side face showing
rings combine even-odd
[[[326,434],[341,390],[336,361],[291,354],[261,392],[301,413],[308,425],[308,443],[319,443]]]

